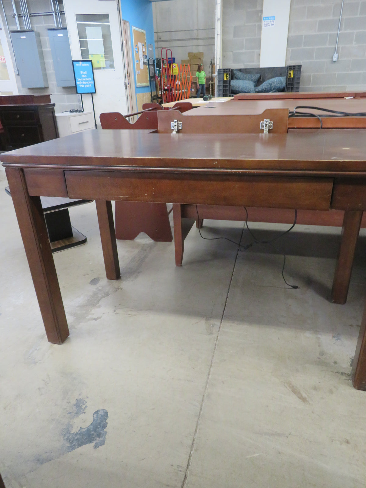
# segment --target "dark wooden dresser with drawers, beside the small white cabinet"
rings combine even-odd
[[[0,121],[4,128],[5,150],[58,138],[54,107],[50,95],[0,97]]]

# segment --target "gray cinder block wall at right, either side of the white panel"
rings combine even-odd
[[[292,0],[286,64],[302,64],[301,91],[366,89],[366,1]],[[259,66],[263,0],[225,0],[223,67]]]

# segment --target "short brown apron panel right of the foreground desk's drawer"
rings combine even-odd
[[[355,178],[335,179],[331,207],[366,210],[366,182]]]

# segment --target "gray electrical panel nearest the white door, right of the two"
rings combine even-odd
[[[47,29],[57,86],[75,86],[67,29]]]

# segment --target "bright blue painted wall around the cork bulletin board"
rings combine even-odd
[[[132,26],[138,27],[146,32],[146,44],[154,46],[155,57],[155,40],[154,40],[154,20],[152,14],[152,2],[149,0],[121,0],[122,19],[130,23],[132,60],[135,65],[134,45],[132,37]],[[147,46],[146,46],[147,49]],[[149,86],[136,86],[136,67],[134,66],[133,76],[135,79],[135,90],[137,93],[150,92]]]

